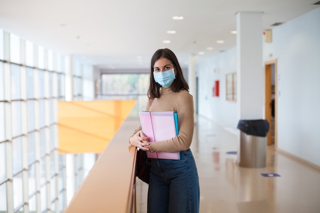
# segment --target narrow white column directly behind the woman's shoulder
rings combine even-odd
[[[196,84],[196,56],[192,54],[189,59],[189,67],[188,67],[188,84],[190,94],[193,96],[193,105],[194,105],[194,112],[197,111],[196,109],[196,100],[197,100],[197,84]]]

